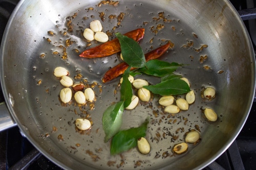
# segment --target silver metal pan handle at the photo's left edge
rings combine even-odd
[[[5,102],[0,103],[0,113],[0,132],[16,126],[16,123],[14,123],[12,117],[10,116]]]

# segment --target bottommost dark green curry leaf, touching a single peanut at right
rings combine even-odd
[[[119,131],[111,141],[110,153],[111,155],[119,154],[121,152],[130,150],[137,146],[137,140],[146,135],[148,120],[146,120],[140,127],[131,128],[128,130]]]

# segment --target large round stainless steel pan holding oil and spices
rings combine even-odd
[[[141,164],[137,167],[139,169],[200,169],[214,161],[237,137],[254,95],[254,54],[236,10],[228,1],[134,0],[119,1],[118,7],[98,7],[98,3],[20,1],[17,5],[1,46],[1,83],[8,108],[19,128],[42,154],[66,169],[116,169],[119,166],[121,169],[131,169],[138,166],[137,161]],[[101,78],[119,59],[117,55],[84,59],[74,51],[74,48],[80,52],[84,50],[87,43],[82,39],[82,30],[89,26],[90,20],[100,19],[99,12],[106,14],[102,22],[103,31],[111,31],[117,25],[117,19],[109,21],[109,15],[124,12],[124,19],[114,32],[125,33],[143,27],[145,37],[140,44],[145,52],[150,50],[151,45],[156,48],[163,44],[162,39],[171,40],[175,47],[161,59],[187,64],[177,73],[188,78],[191,89],[196,92],[196,102],[188,111],[168,117],[157,108],[159,96],[156,95],[152,105],[154,110],[159,111],[157,117],[152,108],[145,107],[143,103],[136,110],[124,113],[122,129],[137,127],[146,117],[151,117],[152,124],[146,136],[152,147],[150,155],[141,155],[132,149],[121,157],[110,156],[110,143],[103,143],[102,112],[112,102],[118,101],[119,93],[114,95],[114,89],[119,80],[102,84]],[[164,12],[164,16],[172,22],[154,20],[154,17],[159,17],[159,12]],[[72,19],[74,33],[63,35],[67,29],[66,17],[75,13],[77,16]],[[146,22],[146,25],[143,24]],[[151,29],[159,23],[164,28],[155,35]],[[49,35],[49,30],[55,35]],[[51,43],[47,38],[51,39]],[[67,47],[68,60],[65,61],[61,59],[63,51],[58,45],[65,45],[69,38],[75,42]],[[193,46],[184,46],[191,41],[194,42]],[[195,52],[203,44],[208,47],[200,53]],[[54,51],[59,54],[53,55]],[[40,57],[41,54],[45,54],[45,57]],[[201,55],[208,56],[203,63],[199,62]],[[77,106],[61,106],[58,94],[62,87],[53,76],[56,66],[66,67],[73,78],[80,71],[89,83],[96,81],[102,84],[102,93],[98,87],[94,89],[97,95],[95,109],[86,110],[94,123],[90,134],[80,134],[75,130],[74,120],[82,114]],[[149,81],[156,82],[153,79]],[[202,88],[206,86],[213,86],[217,90],[216,99],[211,102],[202,100],[200,96]],[[202,116],[201,108],[206,106],[216,110],[217,122],[209,123]],[[184,133],[195,129],[195,126],[201,130],[202,141],[197,146],[189,145],[188,152],[183,155],[170,156],[170,148],[183,141]],[[57,131],[53,131],[53,127]],[[184,132],[176,133],[178,128],[184,128]],[[164,139],[164,132],[171,135]],[[160,133],[161,137],[157,138],[156,133]],[[59,135],[63,140],[59,140]],[[174,135],[179,138],[173,141]],[[109,161],[112,161],[110,166]]]

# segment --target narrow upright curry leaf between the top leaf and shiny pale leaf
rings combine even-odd
[[[132,83],[128,80],[131,67],[127,68],[123,74],[123,82],[121,84],[121,101],[124,102],[124,108],[130,105],[133,96]]]

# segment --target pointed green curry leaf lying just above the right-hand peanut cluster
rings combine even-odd
[[[184,94],[190,91],[187,83],[181,79],[170,79],[156,85],[143,86],[144,88],[160,95]]]

